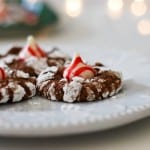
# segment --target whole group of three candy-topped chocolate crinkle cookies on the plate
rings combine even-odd
[[[101,63],[89,65],[57,48],[45,52],[32,36],[22,47],[0,55],[0,103],[27,100],[35,95],[53,101],[102,100],[122,88],[121,75]]]

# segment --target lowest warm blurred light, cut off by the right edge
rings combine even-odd
[[[141,20],[137,24],[138,32],[142,35],[150,35],[150,20]]]

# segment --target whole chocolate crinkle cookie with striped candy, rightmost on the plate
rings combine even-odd
[[[121,74],[101,63],[87,65],[76,56],[65,67],[48,67],[37,78],[37,90],[49,100],[83,102],[102,100],[122,88]]]

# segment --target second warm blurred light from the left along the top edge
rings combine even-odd
[[[108,0],[107,9],[112,19],[119,18],[123,13],[123,0]]]

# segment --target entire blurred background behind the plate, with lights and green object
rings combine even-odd
[[[150,56],[150,0],[0,0],[0,44],[34,34],[43,46]]]

